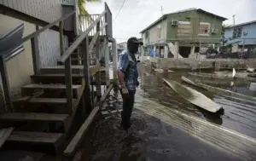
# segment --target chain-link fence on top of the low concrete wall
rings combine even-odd
[[[153,48],[156,57],[160,58],[177,58],[178,55],[182,55],[184,58],[202,57],[202,59],[256,58],[256,38],[236,38],[231,41],[221,38],[175,38],[159,39],[152,42],[145,41],[146,55],[149,55],[148,47]]]

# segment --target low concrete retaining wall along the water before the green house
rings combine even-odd
[[[197,69],[213,67],[215,68],[247,68],[256,67],[256,59],[203,59],[197,60],[195,58],[154,58],[145,56],[143,63],[154,66],[155,68],[184,68],[184,69]]]

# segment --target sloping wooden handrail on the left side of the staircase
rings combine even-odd
[[[44,31],[46,31],[47,29],[49,29],[50,27],[55,26],[55,24],[61,22],[62,20],[66,20],[68,17],[70,17],[71,15],[73,15],[73,14],[75,14],[75,13],[76,13],[76,11],[73,10],[73,11],[70,12],[69,14],[66,14],[66,15],[62,16],[60,19],[55,20],[54,22],[50,23],[50,24],[47,25],[47,26],[44,26],[43,28],[41,28],[41,29],[38,30],[37,32],[33,32],[32,34],[29,34],[28,36],[23,37],[23,38],[22,38],[22,41],[23,41],[23,42],[26,42],[27,40],[31,39],[32,37],[38,36],[41,32],[44,32]]]

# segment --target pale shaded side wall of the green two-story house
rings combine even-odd
[[[158,28],[161,28],[160,37],[157,34]],[[154,44],[154,43],[164,43],[166,41],[166,30],[167,30],[167,20],[163,20],[161,23],[152,26],[148,29],[149,36],[146,37],[146,32],[143,32],[143,43],[144,45]]]

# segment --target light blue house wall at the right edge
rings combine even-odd
[[[228,39],[227,43],[235,43],[237,41],[241,41],[238,43],[239,45],[243,44],[243,38],[245,38],[244,43],[245,45],[256,45],[256,23],[249,24],[246,26],[237,26],[241,27],[241,37],[232,38],[234,28],[228,28],[225,30],[224,37]],[[247,31],[247,35],[243,35],[242,32]],[[231,38],[231,40],[230,40]],[[253,39],[246,39],[246,38],[253,38]]]

